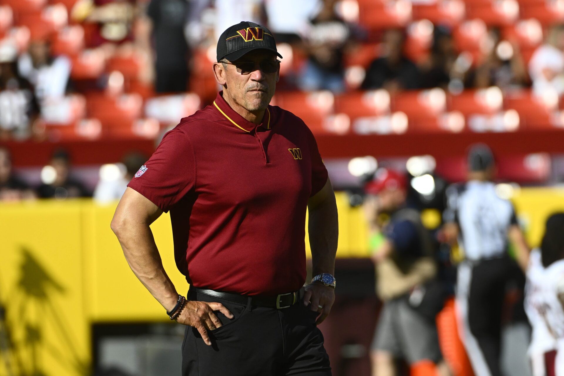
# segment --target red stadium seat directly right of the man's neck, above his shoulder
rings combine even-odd
[[[300,117],[315,132],[328,132],[326,119],[334,113],[334,96],[330,91],[280,92],[275,96],[275,104]],[[339,120],[342,123],[342,118]]]

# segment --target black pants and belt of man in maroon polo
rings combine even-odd
[[[299,302],[283,309],[253,307],[206,294],[188,299],[219,302],[233,314],[215,312],[223,326],[210,332],[211,346],[186,327],[182,344],[183,376],[330,376],[317,313]]]

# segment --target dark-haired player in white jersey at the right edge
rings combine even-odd
[[[527,268],[525,312],[532,326],[534,376],[564,375],[564,213],[550,215]]]

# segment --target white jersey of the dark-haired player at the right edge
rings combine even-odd
[[[540,250],[533,250],[527,269],[525,312],[532,326],[528,352],[535,376],[544,374],[544,353],[553,350],[557,351],[556,374],[564,376],[564,309],[559,293],[564,293],[564,260],[544,268]]]

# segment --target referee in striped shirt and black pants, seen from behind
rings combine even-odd
[[[515,259],[525,270],[528,247],[510,201],[497,196],[490,149],[474,145],[468,154],[468,182],[447,189],[444,235],[458,241],[465,259],[459,265],[456,302],[466,352],[476,376],[501,376],[501,309]]]

